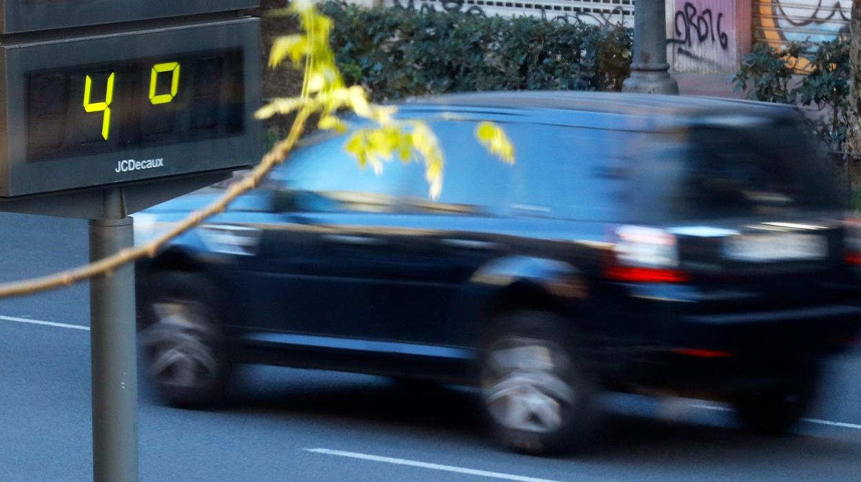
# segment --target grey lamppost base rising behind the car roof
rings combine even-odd
[[[623,92],[678,95],[678,84],[667,72],[665,0],[637,0],[634,11],[634,59]]]

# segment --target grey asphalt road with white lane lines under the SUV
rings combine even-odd
[[[84,263],[86,233],[85,221],[0,215],[0,280]],[[0,480],[92,477],[87,289],[0,301]],[[749,435],[711,404],[608,396],[594,448],[553,459],[493,447],[466,390],[256,366],[225,409],[188,411],[142,383],[140,479],[861,480],[861,353],[828,366],[796,436]]]

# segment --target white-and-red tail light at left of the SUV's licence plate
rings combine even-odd
[[[620,226],[616,243],[604,263],[604,277],[629,283],[684,283],[678,269],[676,236],[660,228]]]

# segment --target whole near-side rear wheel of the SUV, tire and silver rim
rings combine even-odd
[[[585,448],[597,426],[596,379],[571,323],[515,311],[492,323],[480,354],[481,406],[493,438],[523,454]]]

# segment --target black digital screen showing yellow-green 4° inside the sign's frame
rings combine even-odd
[[[28,72],[28,160],[242,134],[242,71],[232,49]]]

